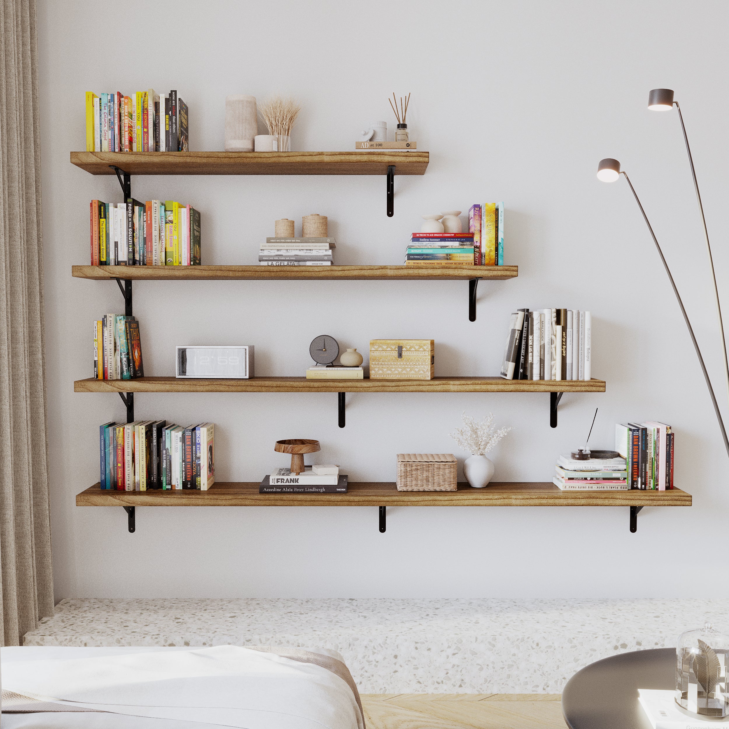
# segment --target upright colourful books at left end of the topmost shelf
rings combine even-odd
[[[175,90],[86,92],[87,152],[187,152],[187,105]]]

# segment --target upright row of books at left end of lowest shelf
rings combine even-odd
[[[207,491],[215,483],[215,426],[165,420],[99,426],[102,491]]]

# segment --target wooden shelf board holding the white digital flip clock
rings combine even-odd
[[[141,377],[74,382],[74,392],[604,392],[604,380],[504,380],[500,377],[436,377],[432,380],[249,380]]]

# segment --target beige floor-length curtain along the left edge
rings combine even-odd
[[[0,0],[0,612],[17,645],[53,613],[34,0]]]

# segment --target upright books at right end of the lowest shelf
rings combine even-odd
[[[674,488],[674,432],[657,421],[615,425],[615,450],[627,461],[630,488]]]

